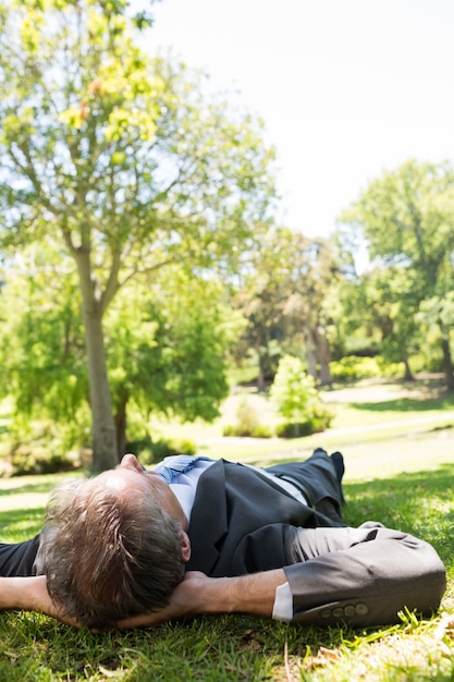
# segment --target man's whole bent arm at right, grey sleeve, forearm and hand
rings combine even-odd
[[[152,626],[199,613],[243,612],[271,617],[275,590],[287,581],[289,620],[353,626],[398,622],[407,607],[435,611],[445,571],[435,550],[405,533],[365,524],[360,528],[300,528],[292,565],[238,577],[188,572],[162,611],[121,621],[120,628]]]

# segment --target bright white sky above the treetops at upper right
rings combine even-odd
[[[154,47],[265,120],[294,230],[330,234],[409,158],[454,160],[453,0],[162,0],[151,12]]]

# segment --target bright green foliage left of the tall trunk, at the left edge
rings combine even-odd
[[[11,400],[14,430],[29,433],[34,419],[51,419],[64,426],[60,437],[68,448],[86,447],[88,381],[77,282],[64,270],[57,277],[56,263],[49,243],[24,249],[8,267],[0,293],[0,398]]]

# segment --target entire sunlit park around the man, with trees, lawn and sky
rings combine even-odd
[[[452,9],[250,2],[223,21],[214,4],[0,3],[1,539],[39,531],[61,477],[125,451],[267,465],[322,446],[344,452],[348,523],[437,547],[443,610],[379,632],[234,617],[99,636],[7,613],[0,678],[451,680]],[[220,82],[218,51],[214,77],[164,51],[179,34],[160,16],[208,66],[189,19],[230,34],[268,121]],[[323,115],[334,101],[348,126]],[[378,119],[398,121],[396,156],[375,156]]]

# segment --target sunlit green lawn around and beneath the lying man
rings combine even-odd
[[[403,392],[397,385],[359,386],[348,395],[332,391],[329,400],[336,417],[326,434],[225,443],[219,430],[200,428],[200,451],[268,465],[302,459],[317,446],[340,449],[346,461],[346,522],[373,519],[414,533],[432,543],[445,562],[449,588],[439,614],[421,621],[403,613],[401,624],[369,631],[234,616],[95,635],[35,613],[9,612],[0,614],[0,681],[454,680],[454,400],[416,388]],[[39,529],[57,479],[0,483],[2,540]]]

